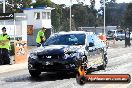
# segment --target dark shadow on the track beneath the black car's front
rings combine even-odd
[[[5,78],[5,82],[43,82],[43,81],[56,81],[75,78],[73,73],[42,73],[39,77],[32,78],[29,74],[23,74],[19,76],[13,76]]]

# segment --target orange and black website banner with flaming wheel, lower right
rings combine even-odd
[[[76,77],[78,84],[83,85],[86,82],[103,82],[103,83],[130,83],[129,74],[88,74]]]

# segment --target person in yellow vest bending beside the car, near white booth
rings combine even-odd
[[[43,45],[44,41],[46,40],[45,39],[45,30],[46,30],[46,28],[42,27],[37,34],[37,37],[36,37],[37,47],[40,47],[41,45]]]

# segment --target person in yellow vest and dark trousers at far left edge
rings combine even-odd
[[[2,28],[2,34],[0,34],[0,64],[10,64],[10,36],[6,33],[6,28]]]

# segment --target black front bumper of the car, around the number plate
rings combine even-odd
[[[30,58],[30,57],[29,57]],[[42,72],[58,72],[58,71],[76,71],[81,65],[81,60],[75,58],[69,59],[43,59],[29,60],[29,70],[40,70]]]

